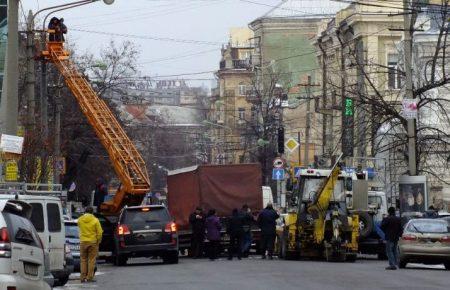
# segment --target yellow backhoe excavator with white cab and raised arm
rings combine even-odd
[[[300,176],[297,196],[277,236],[281,258],[356,260],[359,219],[347,210],[345,195],[336,192],[342,188],[341,158],[326,178],[315,178],[314,173],[311,179]]]

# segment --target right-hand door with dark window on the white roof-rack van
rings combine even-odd
[[[65,229],[62,219],[62,207],[58,201],[48,200],[45,204],[45,218],[48,232],[48,251],[50,271],[64,269]]]

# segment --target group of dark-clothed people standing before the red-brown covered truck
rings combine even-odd
[[[226,232],[230,238],[228,246],[228,260],[237,257],[239,260],[250,251],[252,245],[252,227],[261,229],[262,258],[273,258],[276,236],[276,220],[279,214],[268,204],[257,217],[251,212],[248,205],[240,210],[233,209],[226,219]],[[196,259],[207,254],[210,260],[215,260],[220,251],[220,238],[222,223],[215,209],[210,209],[205,215],[201,207],[197,207],[190,215],[189,222],[192,228],[191,256]]]

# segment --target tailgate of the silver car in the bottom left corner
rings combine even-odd
[[[18,289],[36,289],[43,279],[44,251],[33,224],[24,217],[4,213],[11,240],[11,270],[21,278]]]

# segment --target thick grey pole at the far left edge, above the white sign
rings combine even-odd
[[[19,109],[19,0],[9,0],[7,7],[8,36],[5,58],[5,78],[1,97],[1,132],[17,134]]]

